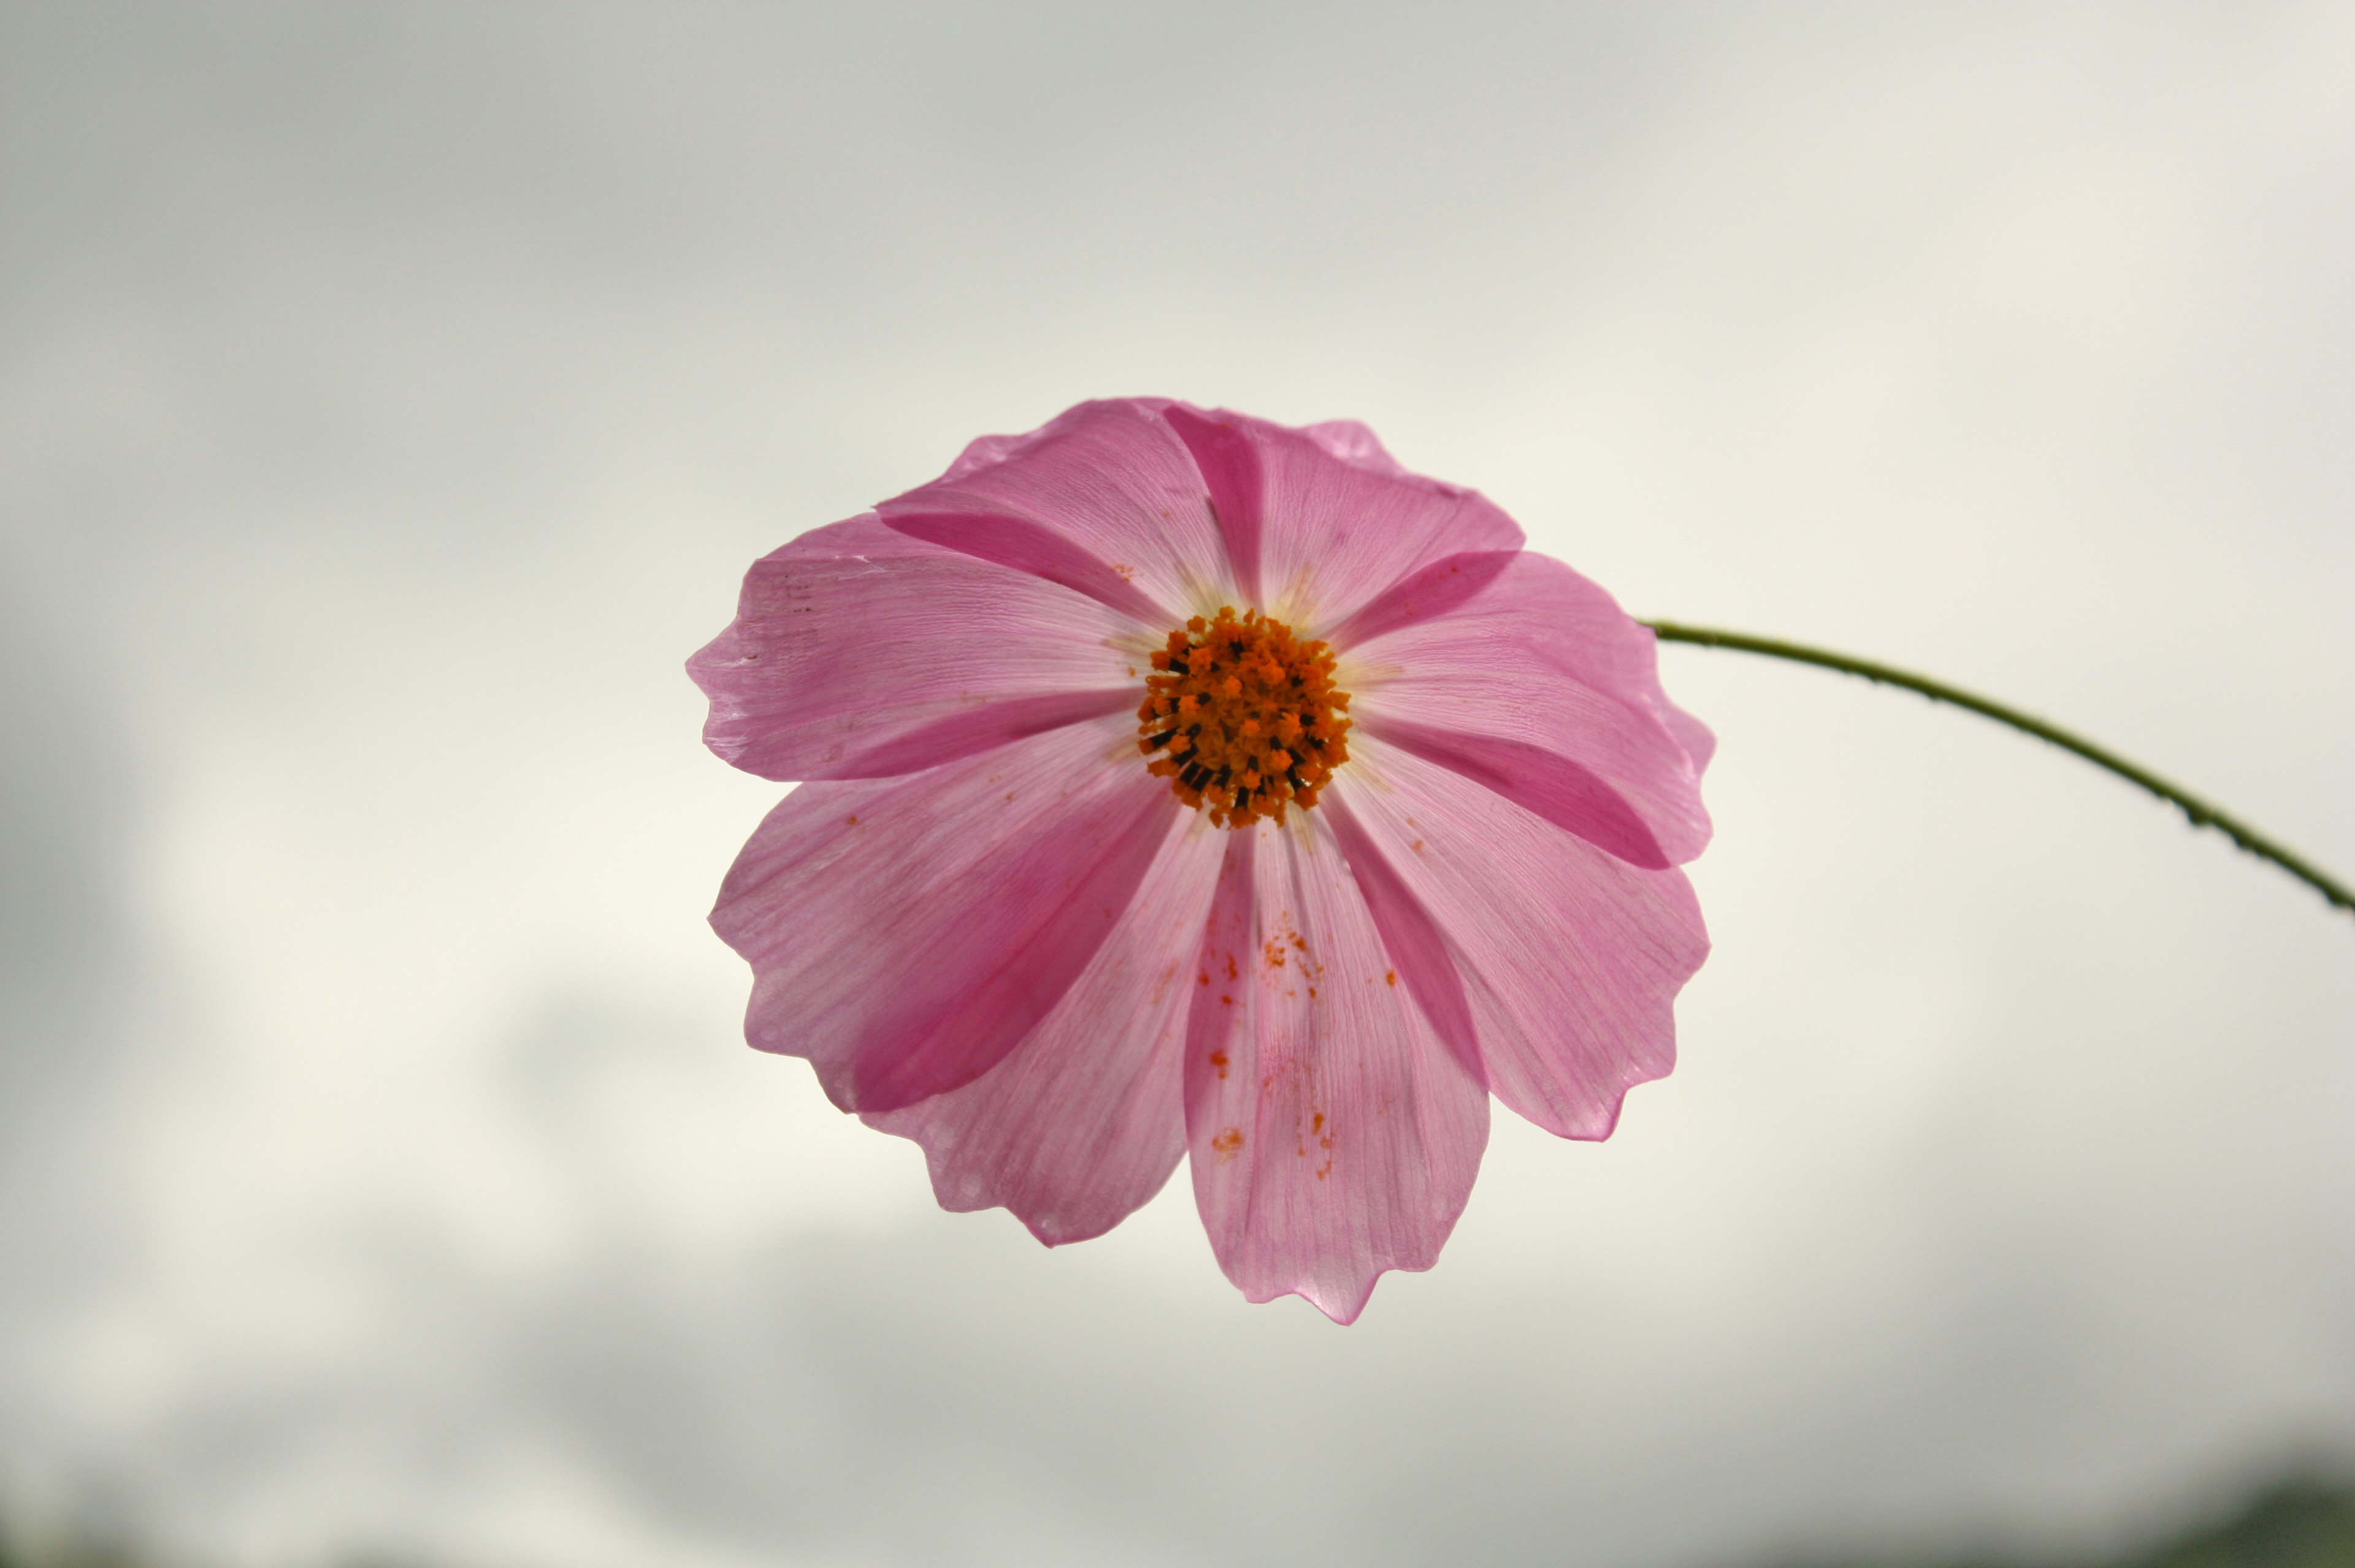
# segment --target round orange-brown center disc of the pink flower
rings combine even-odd
[[[1349,760],[1347,735],[1349,692],[1333,690],[1333,650],[1295,640],[1258,610],[1196,614],[1173,631],[1137,709],[1137,751],[1154,758],[1145,770],[1234,829],[1316,805]]]

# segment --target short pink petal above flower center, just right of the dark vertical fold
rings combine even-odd
[[[1446,556],[1512,551],[1519,525],[1477,490],[1406,473],[1371,433],[1288,431],[1225,410],[1260,459],[1260,607],[1326,636],[1401,577]]]

